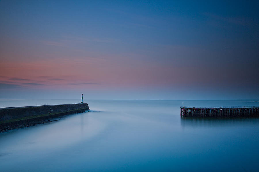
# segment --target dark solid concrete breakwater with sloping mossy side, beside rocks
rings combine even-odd
[[[89,110],[87,103],[0,108],[0,124],[55,117]]]

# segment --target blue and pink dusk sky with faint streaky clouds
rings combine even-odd
[[[0,98],[259,99],[259,1],[0,1]]]

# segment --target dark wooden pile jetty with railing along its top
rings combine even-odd
[[[184,107],[181,117],[259,117],[259,107]]]

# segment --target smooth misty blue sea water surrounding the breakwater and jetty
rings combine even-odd
[[[184,101],[259,106],[258,100]],[[80,100],[0,100],[0,107]],[[87,100],[90,112],[0,134],[0,171],[258,171],[259,119],[182,119],[179,100]],[[59,119],[59,118],[57,118]]]

